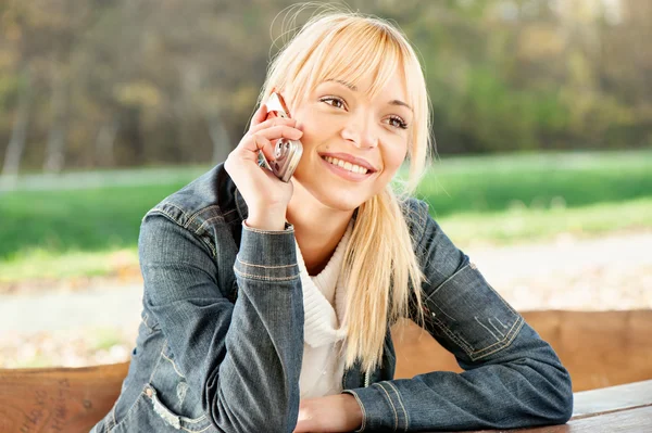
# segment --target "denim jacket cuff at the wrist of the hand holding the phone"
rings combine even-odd
[[[265,231],[242,222],[240,251],[234,271],[241,278],[284,281],[299,278],[294,228]]]

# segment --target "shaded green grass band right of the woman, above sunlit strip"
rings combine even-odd
[[[438,217],[652,196],[652,151],[443,158],[417,195]]]

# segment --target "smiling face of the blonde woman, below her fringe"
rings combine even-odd
[[[374,99],[371,84],[321,82],[291,113],[303,130],[293,181],[327,207],[355,209],[387,186],[405,158],[413,114],[403,80],[394,74]]]

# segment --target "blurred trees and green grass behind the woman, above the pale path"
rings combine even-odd
[[[652,2],[347,3],[417,48],[417,196],[455,243],[652,227]],[[145,213],[244,132],[291,4],[0,1],[0,286],[136,265]]]

